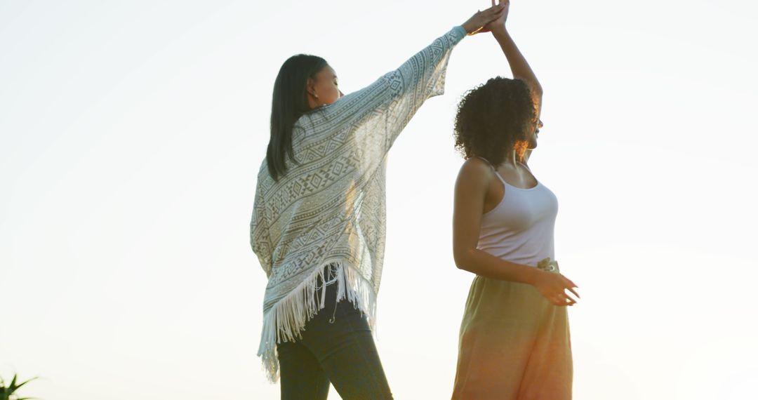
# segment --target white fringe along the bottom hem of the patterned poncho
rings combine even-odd
[[[330,270],[334,278],[325,281],[324,269],[330,264],[333,265]],[[319,280],[324,284],[317,287]],[[368,316],[368,325],[371,332],[374,332],[376,294],[371,283],[343,262],[324,262],[321,267],[316,268],[311,277],[263,314],[263,332],[258,356],[262,358],[266,377],[271,383],[279,380],[277,343],[292,342],[302,337],[300,332],[305,323],[324,308],[327,283],[337,284],[337,302],[347,298],[348,302]],[[318,302],[316,290],[321,290],[321,302]]]

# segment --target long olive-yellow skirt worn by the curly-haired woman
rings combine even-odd
[[[533,286],[476,277],[461,323],[453,400],[570,400],[566,307]]]

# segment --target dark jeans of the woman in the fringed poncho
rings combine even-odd
[[[325,399],[330,382],[343,400],[392,398],[366,317],[346,298],[336,299],[337,284],[330,284],[325,307],[305,323],[302,339],[277,344],[282,400]]]

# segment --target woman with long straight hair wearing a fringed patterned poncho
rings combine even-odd
[[[268,276],[258,355],[269,379],[281,377],[282,398],[326,398],[329,383],[346,400],[392,398],[371,336],[385,156],[424,101],[443,93],[453,47],[503,10],[474,14],[349,95],[323,58],[282,65],[250,227]]]

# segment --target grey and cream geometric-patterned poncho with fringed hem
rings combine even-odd
[[[291,341],[316,312],[324,267],[336,266],[347,298],[373,327],[385,231],[385,161],[427,98],[444,91],[455,27],[370,86],[300,117],[287,174],[275,182],[264,160],[250,223],[252,250],[268,276],[258,355],[277,380],[276,343]]]

